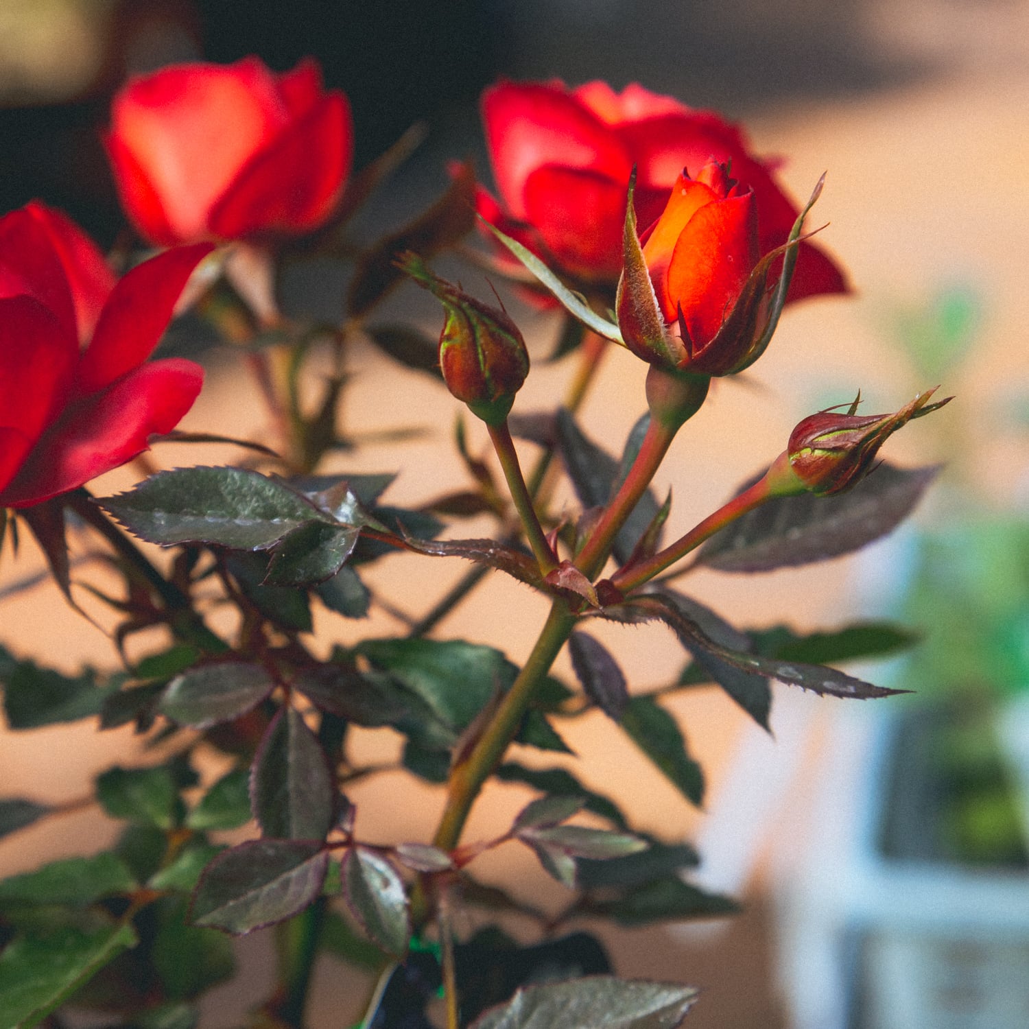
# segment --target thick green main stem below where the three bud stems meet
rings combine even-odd
[[[555,600],[536,645],[513,685],[504,695],[468,756],[451,772],[447,805],[432,840],[436,847],[449,851],[457,846],[483,783],[493,774],[507,745],[514,739],[533,695],[549,672],[554,659],[571,635],[574,625],[575,615],[569,611],[565,601]]]

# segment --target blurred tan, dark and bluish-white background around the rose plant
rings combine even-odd
[[[779,453],[801,417],[858,387],[870,412],[893,411],[937,382],[957,394],[889,443],[896,463],[947,463],[912,527],[855,558],[746,580],[701,572],[683,583],[746,627],[813,631],[883,615],[913,626],[923,636],[913,654],[858,674],[918,696],[855,710],[777,686],[774,739],[720,691],[678,697],[674,710],[708,772],[703,814],[601,719],[576,722],[569,742],[582,779],[604,783],[642,827],[697,841],[699,881],[745,902],[729,923],[604,939],[624,974],[702,987],[689,1016],[699,1029],[1029,1024],[1029,3],[0,0],[0,211],[39,198],[110,245],[123,224],[100,143],[112,92],[169,62],[248,54],[277,70],[308,55],[321,62],[353,105],[357,168],[415,121],[428,125],[427,142],[359,222],[368,240],[443,188],[449,158],[472,154],[488,175],[476,105],[499,75],[639,81],[717,107],[745,122],[757,153],[782,155],[794,198],[828,171],[816,215],[830,222],[821,239],[854,294],[791,309],[748,381],[719,384],[690,422],[659,486],[674,486],[670,528],[684,531]],[[283,285],[287,304],[290,290],[316,293],[329,313],[342,304],[331,269],[294,270]],[[434,324],[407,292],[395,303]],[[545,353],[553,328],[524,317],[530,349],[537,339]],[[451,425],[453,401],[431,383],[370,351],[355,354],[353,371],[352,425],[392,427],[396,411],[413,424]],[[541,366],[520,404],[552,404],[566,376],[563,365]],[[609,449],[643,410],[642,379],[632,357],[612,354],[583,409],[584,428]],[[215,364],[185,427],[260,432],[247,388]],[[447,429],[435,432],[402,450],[370,446],[340,467],[399,468],[391,497],[424,500],[460,475]],[[112,473],[98,491],[129,476]],[[377,582],[399,592],[411,574],[428,576],[404,587],[428,607],[459,572],[424,564],[432,567],[386,562]],[[5,555],[0,589],[40,567],[31,546],[16,564]],[[541,612],[536,598],[491,578],[442,632],[499,643],[517,661]],[[377,617],[320,628],[344,641],[396,631]],[[658,630],[645,640],[641,631],[601,635],[634,685],[667,681],[681,663]],[[113,662],[109,642],[48,587],[4,601],[0,639],[69,671]],[[369,748],[388,746],[368,737]],[[5,792],[67,800],[137,747],[129,731],[4,733],[0,782]],[[58,752],[59,764],[43,756]],[[423,838],[439,808],[437,792],[390,777],[355,800],[369,838]],[[469,835],[504,824],[524,800],[498,788]],[[0,872],[99,849],[105,832],[91,812],[41,823],[4,842]],[[558,902],[560,888],[528,857],[504,852],[492,874]],[[242,983],[212,998],[206,1025],[229,1025],[251,1002],[263,946],[259,934],[244,941]],[[364,989],[327,961],[314,1029],[349,1024]]]

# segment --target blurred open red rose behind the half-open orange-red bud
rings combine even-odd
[[[626,188],[637,169],[636,212],[645,229],[661,214],[682,169],[726,164],[757,208],[757,244],[786,242],[797,209],[753,157],[739,129],[640,85],[500,82],[483,96],[486,140],[501,208],[488,194],[480,213],[578,279],[614,283],[622,271]],[[497,220],[499,218],[499,220]],[[801,245],[789,299],[846,291],[818,247]]]

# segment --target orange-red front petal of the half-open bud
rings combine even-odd
[[[753,193],[702,207],[679,236],[668,267],[665,317],[681,308],[698,349],[717,333],[757,262]]]

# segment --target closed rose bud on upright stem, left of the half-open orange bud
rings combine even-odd
[[[398,263],[443,306],[439,370],[447,388],[476,418],[500,425],[529,374],[529,352],[518,326],[506,312],[434,276],[415,254],[404,254]]]

